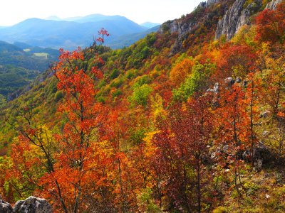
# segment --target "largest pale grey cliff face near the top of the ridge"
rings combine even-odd
[[[239,28],[250,24],[250,16],[257,13],[262,7],[262,0],[254,0],[246,8],[244,8],[244,3],[245,0],[234,1],[232,7],[226,11],[223,18],[219,20],[216,39],[222,35],[226,35],[227,40],[231,39],[239,31]]]

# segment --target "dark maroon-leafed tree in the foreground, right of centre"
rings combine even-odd
[[[170,202],[177,209],[203,211],[206,201],[202,185],[207,177],[203,156],[209,148],[213,122],[209,97],[190,99],[182,107],[172,107],[170,116],[160,124],[160,133],[154,137],[155,160],[163,168],[160,171],[165,178],[162,191],[170,195]]]

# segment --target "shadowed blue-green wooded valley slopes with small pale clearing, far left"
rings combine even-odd
[[[0,41],[0,94],[6,99],[18,97],[18,90],[47,70],[58,55],[58,50],[51,48]]]

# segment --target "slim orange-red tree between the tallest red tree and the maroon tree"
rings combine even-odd
[[[110,174],[113,176],[113,191],[115,192],[114,203],[120,212],[128,212],[133,202],[133,193],[130,192],[128,170],[130,165],[128,158],[123,152],[123,141],[127,136],[128,126],[125,121],[125,109],[118,107],[108,114],[108,119],[102,129],[101,140],[106,141],[105,147],[112,158],[113,167]]]

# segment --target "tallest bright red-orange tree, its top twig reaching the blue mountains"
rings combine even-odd
[[[99,34],[102,37],[96,41],[100,45],[108,32],[101,29]],[[61,186],[73,212],[82,211],[82,200],[90,189],[96,190],[96,187],[90,187],[92,182],[104,179],[101,171],[106,159],[98,156],[100,147],[95,143],[105,117],[102,104],[95,103],[95,81],[103,76],[99,70],[103,60],[96,53],[96,41],[92,47],[83,51],[80,48],[72,53],[61,50],[60,61],[53,67],[58,89],[65,93],[65,102],[59,110],[68,120],[63,133],[56,137],[62,151],[57,156],[54,176],[59,178],[64,175]],[[93,67],[88,70],[90,62]],[[67,209],[63,207],[63,210]]]

